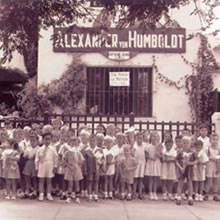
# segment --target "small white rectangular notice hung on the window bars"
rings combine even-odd
[[[109,72],[110,86],[130,86],[130,72]]]

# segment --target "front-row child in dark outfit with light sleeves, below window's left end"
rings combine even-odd
[[[102,164],[103,150],[96,146],[96,135],[89,138],[89,147],[85,150],[89,201],[98,201],[99,169]],[[94,193],[94,196],[92,195]]]

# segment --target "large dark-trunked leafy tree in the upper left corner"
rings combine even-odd
[[[36,75],[40,29],[72,23],[89,14],[78,0],[0,0],[1,62],[10,61],[18,51],[30,76]]]

